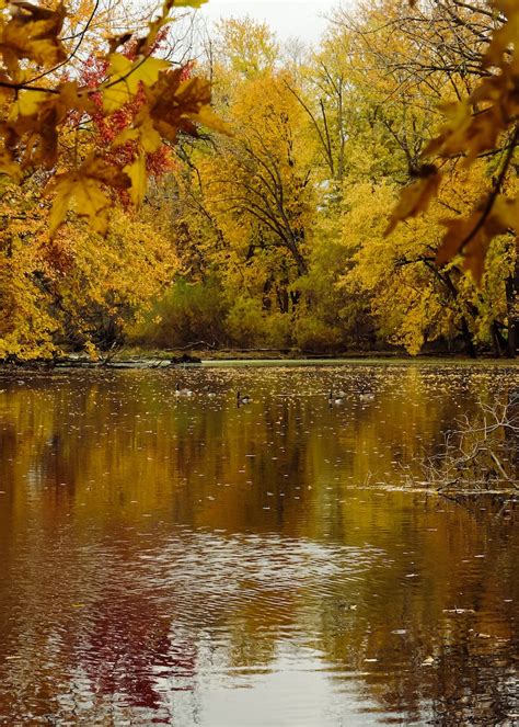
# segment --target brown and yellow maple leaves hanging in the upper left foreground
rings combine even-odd
[[[174,145],[180,133],[196,136],[200,124],[224,130],[209,107],[209,83],[152,56],[173,11],[204,1],[165,0],[142,36],[108,38],[97,58],[106,72],[95,86],[73,70],[78,45],[64,38],[70,21],[65,5],[0,4],[0,174],[20,183],[45,171],[46,194],[54,200],[51,236],[69,211],[105,234],[112,192],[127,190],[140,204],[147,160],[164,141]],[[128,43],[131,57],[125,53]],[[111,144],[92,143],[94,121],[109,124],[128,105],[136,112]],[[116,152],[128,143],[132,159],[123,164]]]

